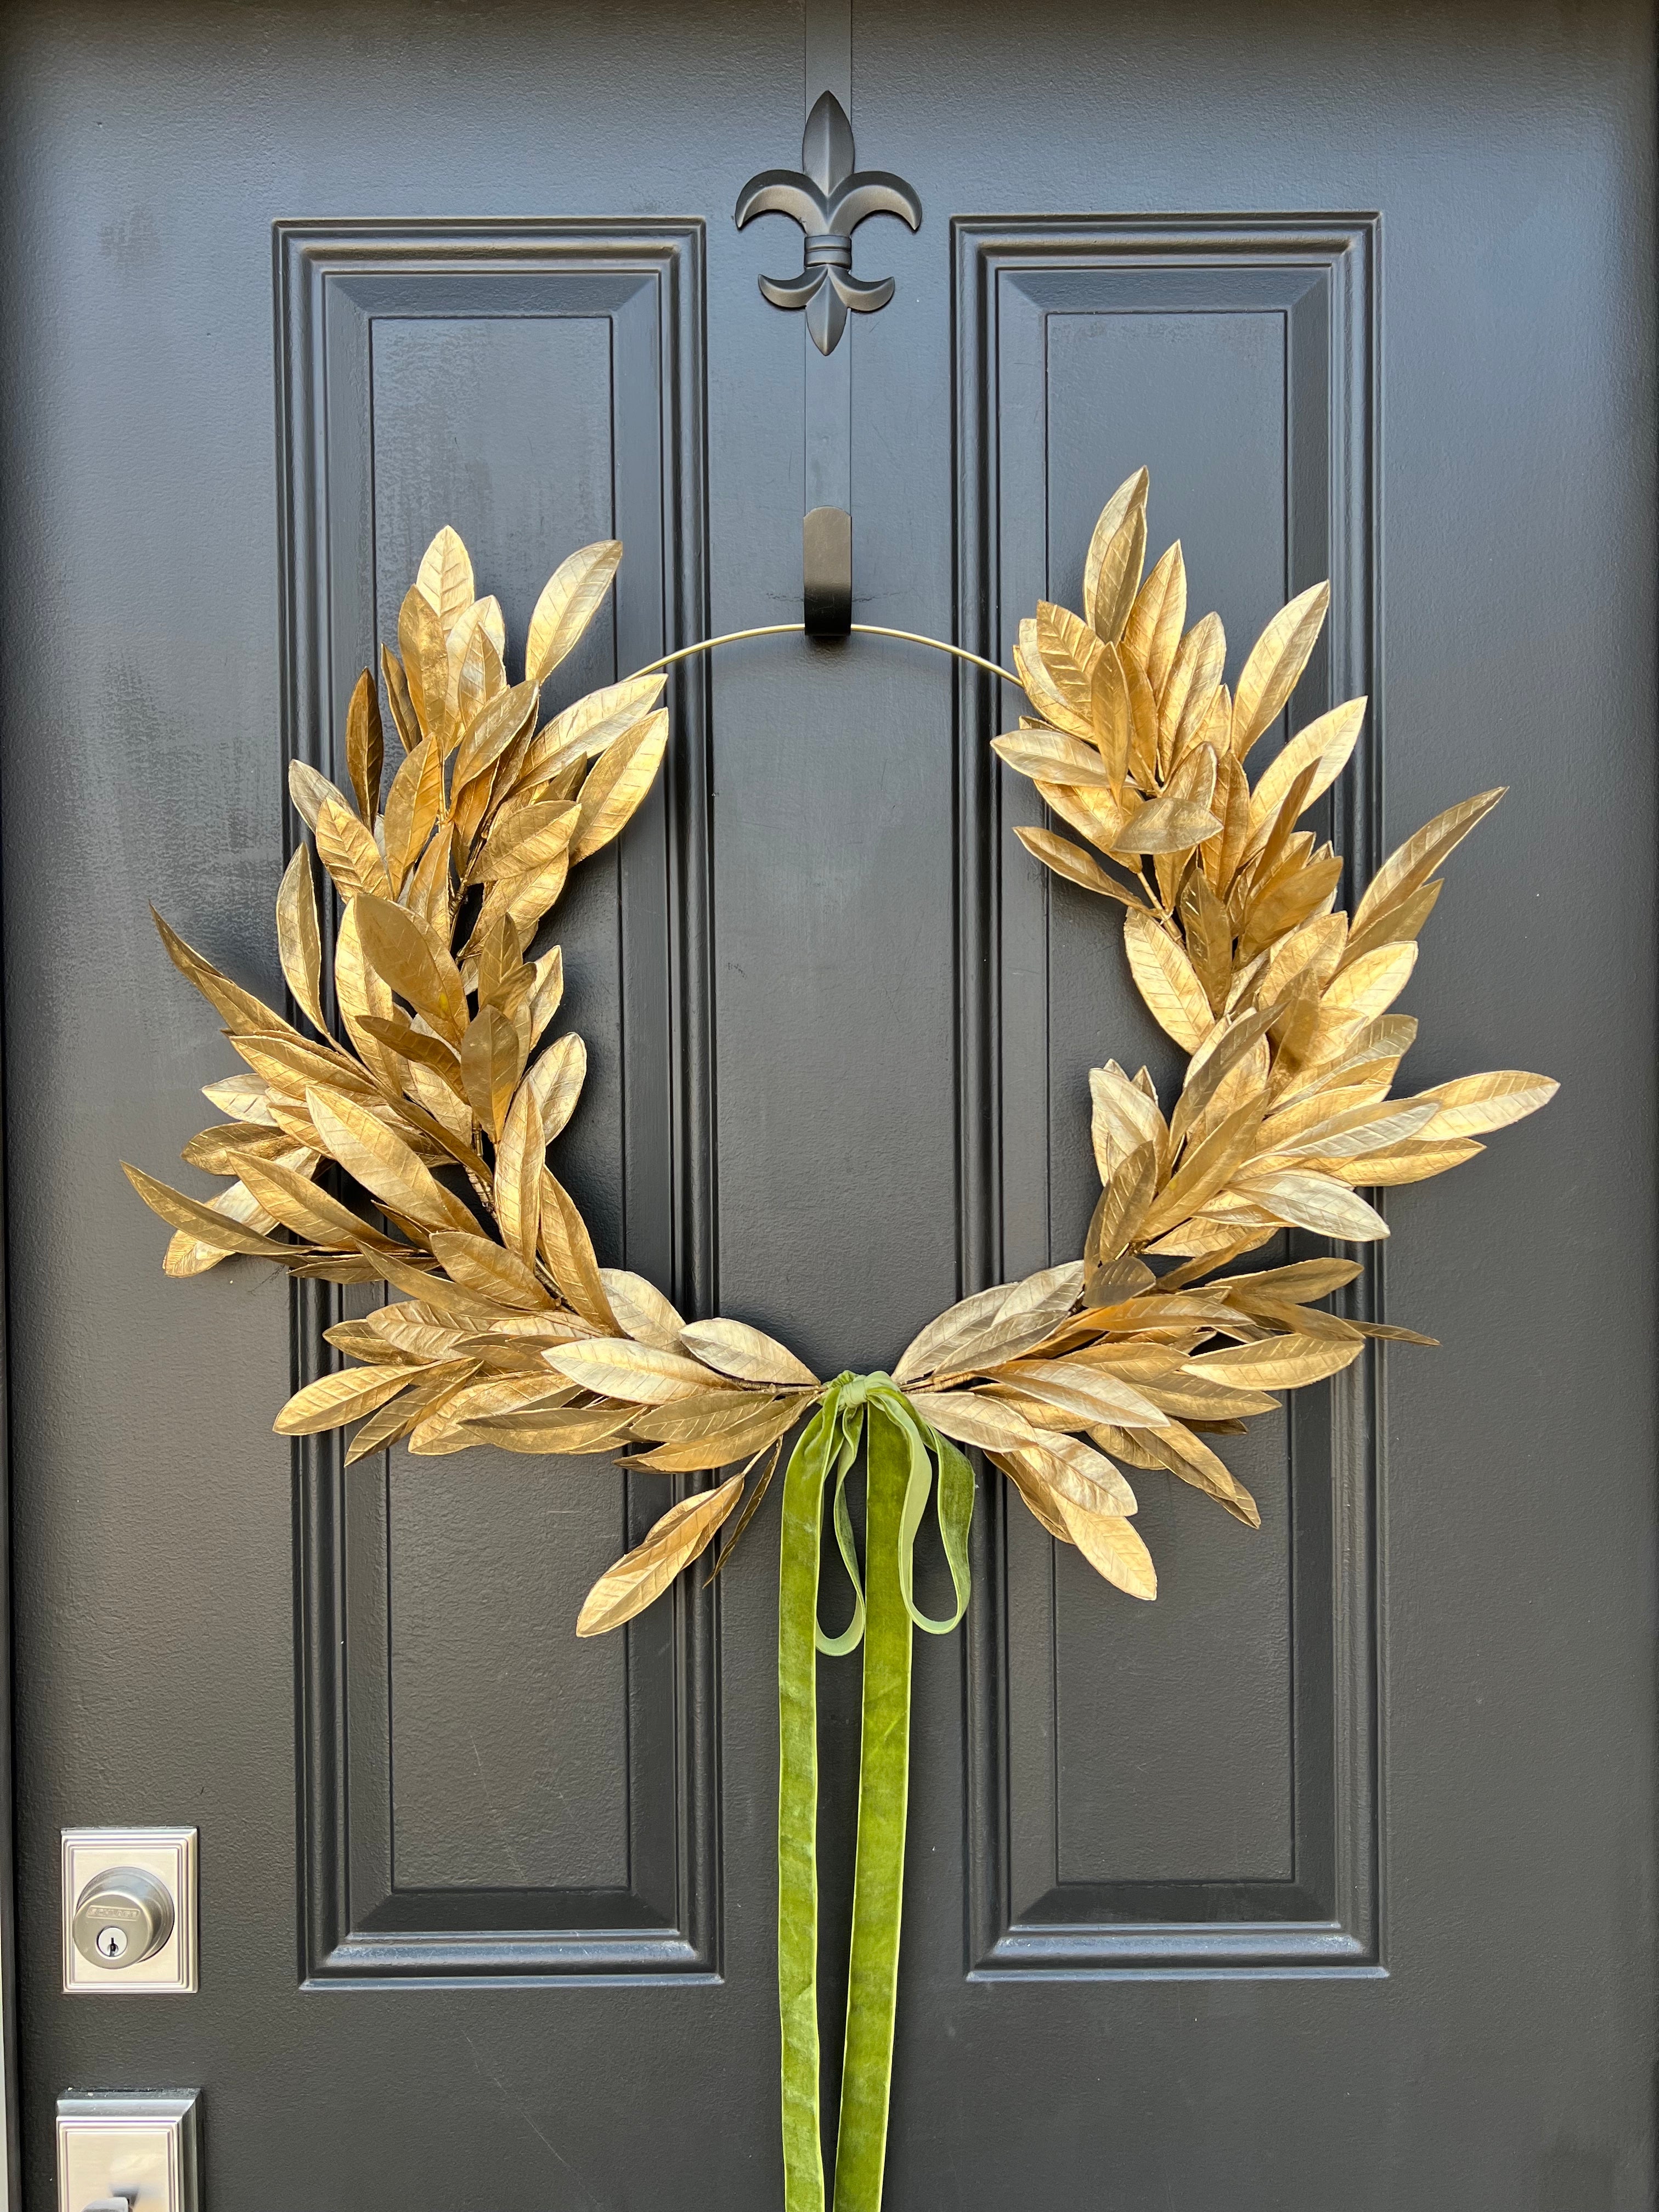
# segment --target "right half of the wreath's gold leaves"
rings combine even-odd
[[[1141,469],[1095,526],[1086,613],[1042,604],[1020,624],[1033,714],[993,743],[1084,841],[1018,830],[1026,849],[1126,909],[1130,973],[1190,1055],[1181,1095],[1166,1117],[1146,1068],[1095,1068],[1102,1192],[1082,1261],[962,1301],[894,1369],[936,1429],[980,1444],[1051,1535],[1137,1597],[1157,1579],[1117,1462],[1179,1475],[1256,1526],[1210,1438],[1347,1367],[1367,1336],[1429,1343],[1325,1310],[1358,1261],[1223,1270],[1285,1230],[1387,1237],[1360,1190],[1455,1168],[1557,1088],[1506,1071],[1394,1095],[1418,1024],[1389,1009],[1436,872],[1502,792],[1447,807],[1352,918],[1336,911],[1343,863],[1303,816],[1347,765],[1365,699],[1292,737],[1254,785],[1248,772],[1329,586],[1274,615],[1228,690],[1221,619],[1186,622],[1179,542],[1144,577],[1146,491]]]

